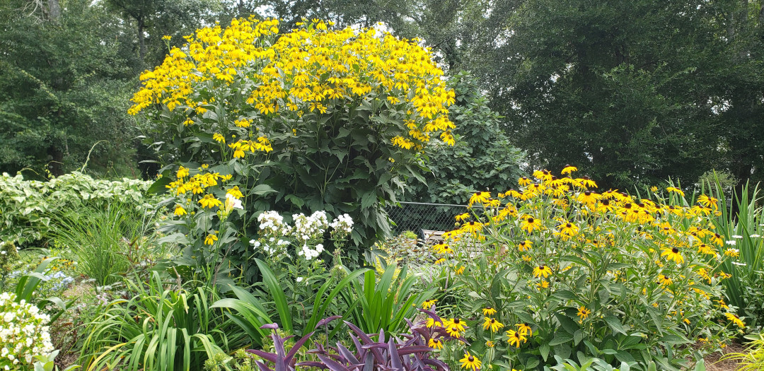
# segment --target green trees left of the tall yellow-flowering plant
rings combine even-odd
[[[97,144],[89,169],[137,176],[120,25],[84,0],[64,2],[55,18],[30,15],[28,6],[0,5],[0,173],[60,176],[82,166]]]

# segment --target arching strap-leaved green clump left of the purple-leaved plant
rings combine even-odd
[[[134,296],[118,298],[88,325],[83,364],[88,370],[200,370],[205,360],[243,346],[246,334],[209,303],[214,286],[167,289],[154,272],[148,282],[125,284]],[[234,330],[234,331],[231,331]]]

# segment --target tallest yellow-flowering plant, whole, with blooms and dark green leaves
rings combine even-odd
[[[130,109],[151,128],[179,213],[216,210],[236,189],[228,194],[247,211],[239,234],[256,211],[325,210],[350,214],[354,243],[371,244],[387,232],[380,204],[421,179],[423,148],[454,142],[454,93],[414,40],[323,21],[282,34],[278,21],[254,18],[186,40],[141,75]]]

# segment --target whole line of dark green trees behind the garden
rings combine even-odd
[[[66,173],[92,147],[97,176],[154,175],[151,133],[125,114],[138,74],[163,60],[163,35],[180,45],[250,14],[384,22],[432,46],[461,139],[428,153],[434,186],[409,199],[459,202],[568,163],[604,189],[764,179],[762,0],[5,0],[0,172]]]

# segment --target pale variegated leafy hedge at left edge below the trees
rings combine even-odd
[[[24,176],[0,176],[0,240],[20,246],[49,238],[51,218],[86,205],[104,208],[109,202],[130,203],[144,211],[154,208],[144,197],[150,185],[134,179],[109,181],[73,172],[47,182],[24,180]]]

